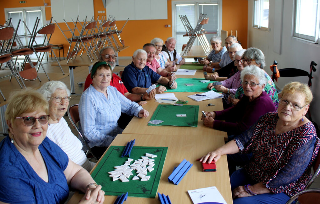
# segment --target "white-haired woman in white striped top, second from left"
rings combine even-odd
[[[67,121],[63,118],[68,110],[70,91],[61,81],[49,81],[42,85],[39,93],[49,102],[49,126],[47,137],[56,143],[71,159],[90,172],[95,163],[90,162],[84,151],[81,141],[71,132]]]

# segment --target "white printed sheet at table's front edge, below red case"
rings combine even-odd
[[[215,186],[189,190],[188,193],[194,204],[209,204],[211,202],[227,204],[227,202],[223,199],[222,195]]]

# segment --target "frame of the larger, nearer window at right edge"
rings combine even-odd
[[[320,0],[317,0],[317,12],[316,12],[316,25],[315,25],[315,36],[305,35],[296,33],[296,16],[297,16],[297,5],[298,0],[294,0],[293,4],[293,17],[292,17],[292,37],[297,38],[299,40],[311,42],[311,43],[320,43]],[[299,14],[300,15],[300,14]]]

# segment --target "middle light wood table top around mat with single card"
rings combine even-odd
[[[165,92],[168,93],[168,92]],[[199,105],[199,115],[198,115],[198,126],[197,127],[180,127],[180,126],[148,126],[148,121],[151,120],[153,113],[155,112],[159,104],[167,103],[158,103],[155,99],[148,101],[146,105],[143,105],[145,110],[148,110],[149,117],[147,118],[138,118],[133,117],[130,123],[122,132],[123,134],[164,134],[164,135],[211,135],[214,136],[223,136],[227,138],[227,132],[215,130],[211,127],[204,126],[201,120],[201,111],[218,111],[223,110],[222,99],[213,99],[205,101],[194,101],[191,98],[188,98],[188,95],[196,94],[192,92],[174,92],[175,96],[178,99],[189,101],[186,105]],[[208,103],[215,104],[215,106],[207,106]]]

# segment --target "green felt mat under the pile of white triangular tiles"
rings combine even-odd
[[[124,148],[125,146],[110,146],[97,168],[92,172],[92,178],[102,186],[105,195],[117,196],[128,192],[128,196],[132,197],[155,198],[168,147],[133,146],[129,157],[133,161],[146,156],[146,153],[157,155],[153,158],[155,160],[154,170],[147,173],[147,176],[151,176],[150,179],[148,181],[132,180],[137,175],[136,171],[132,170],[133,175],[128,178],[129,182],[122,182],[120,179],[112,181],[108,172],[114,171],[115,166],[123,165],[128,160],[127,156],[121,157]]]

